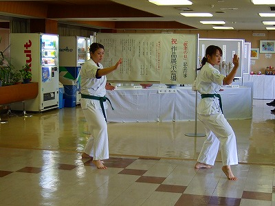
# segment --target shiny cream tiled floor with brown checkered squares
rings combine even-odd
[[[275,205],[275,115],[254,100],[253,118],[229,120],[238,181],[221,157],[195,170],[205,137],[195,122],[109,123],[107,170],[81,159],[87,123],[80,106],[5,117],[0,124],[0,205]],[[197,122],[197,133],[204,129]]]

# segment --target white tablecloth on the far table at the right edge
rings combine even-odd
[[[275,99],[275,76],[272,75],[252,75],[250,81],[253,82],[253,98],[261,100]]]

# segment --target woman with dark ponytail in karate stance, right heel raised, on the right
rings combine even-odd
[[[206,128],[206,141],[195,164],[195,168],[212,168],[219,147],[223,166],[221,170],[230,180],[236,181],[230,165],[238,164],[236,137],[232,127],[225,119],[222,111],[221,96],[218,92],[222,85],[231,84],[239,67],[239,57],[234,54],[234,67],[228,76],[223,76],[214,65],[221,62],[222,50],[210,45],[201,61],[197,78],[192,85],[193,91],[201,94],[201,102],[197,106],[198,119]]]

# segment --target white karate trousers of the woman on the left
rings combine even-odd
[[[91,133],[84,152],[94,160],[109,159],[107,122],[102,109],[87,104],[87,109],[83,109],[83,113]]]

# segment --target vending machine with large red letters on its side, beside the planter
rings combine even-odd
[[[25,102],[26,111],[46,111],[59,105],[59,66],[57,34],[10,34],[12,65],[22,69],[26,64],[32,71],[32,81],[39,83],[39,94]],[[22,104],[12,109],[22,110]]]

